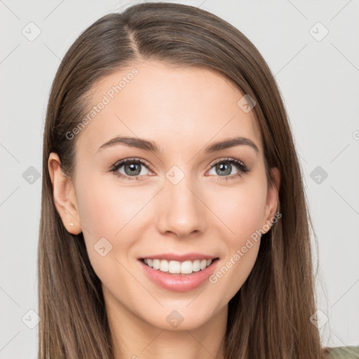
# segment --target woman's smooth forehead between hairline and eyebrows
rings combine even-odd
[[[93,86],[78,147],[89,154],[118,135],[158,143],[166,152],[196,151],[210,142],[241,136],[262,153],[254,111],[243,111],[241,93],[209,69],[147,60],[106,76]]]

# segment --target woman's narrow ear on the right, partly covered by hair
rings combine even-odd
[[[280,187],[280,172],[276,167],[272,167],[270,172],[271,172],[271,177],[274,180],[274,183],[272,184],[271,182],[269,182],[269,187],[266,196],[266,208],[264,210],[264,219],[262,223],[262,229],[264,230],[262,230],[262,233],[266,233],[269,231],[269,229],[271,229],[273,218],[275,218],[276,211],[279,205],[278,194]],[[266,228],[268,227],[269,229],[266,230]]]

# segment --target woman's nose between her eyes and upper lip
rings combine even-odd
[[[184,176],[177,184],[165,179],[157,202],[157,226],[163,234],[185,238],[205,229],[205,204],[190,177]]]

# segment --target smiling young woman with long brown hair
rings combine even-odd
[[[238,29],[179,4],[97,20],[53,81],[43,173],[39,358],[327,357],[287,114]]]

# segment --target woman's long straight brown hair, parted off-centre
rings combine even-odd
[[[88,27],[67,51],[48,101],[43,134],[39,236],[39,358],[114,358],[100,279],[83,234],[70,234],[53,201],[48,156],[74,173],[76,137],[67,133],[86,114],[91,88],[137,60],[204,67],[226,76],[255,100],[269,169],[280,170],[282,217],[262,236],[250,276],[229,302],[226,359],[324,357],[310,318],[316,311],[311,219],[302,173],[276,81],[255,46],[238,29],[194,6],[144,3]]]

